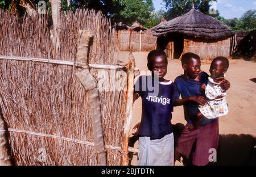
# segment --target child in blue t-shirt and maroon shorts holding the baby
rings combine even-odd
[[[195,53],[185,53],[181,58],[184,74],[175,79],[175,106],[184,107],[184,117],[187,121],[175,148],[175,161],[180,154],[189,157],[192,147],[193,165],[207,165],[212,149],[218,147],[218,117],[207,119],[203,116],[199,127],[193,125],[199,112],[198,105],[207,103],[204,93],[200,91],[202,84],[207,85],[209,75],[201,71],[200,57]],[[221,82],[222,89],[228,90],[230,83],[226,80]],[[181,99],[179,99],[181,95]]]

